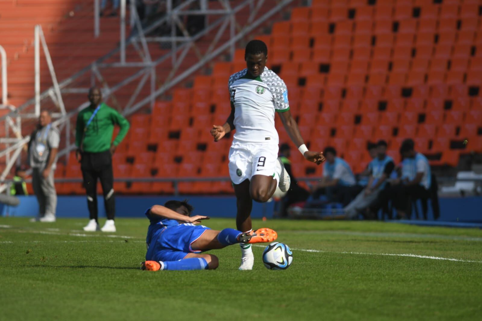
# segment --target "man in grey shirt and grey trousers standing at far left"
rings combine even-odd
[[[28,142],[28,162],[32,167],[32,186],[39,202],[39,216],[33,221],[55,222],[57,192],[54,185],[55,163],[60,136],[52,126],[52,116],[42,111],[37,129]]]

